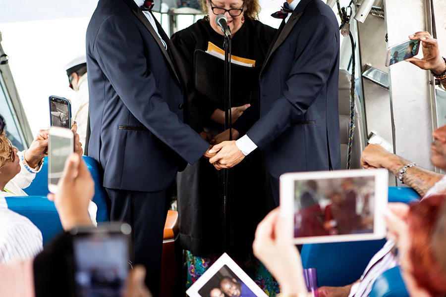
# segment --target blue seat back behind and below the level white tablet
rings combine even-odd
[[[390,202],[412,203],[419,195],[411,188],[389,187]],[[386,240],[303,245],[304,268],[316,268],[318,286],[345,286],[357,281]]]

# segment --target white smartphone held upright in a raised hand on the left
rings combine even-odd
[[[48,190],[56,193],[65,161],[74,152],[74,133],[68,128],[53,126],[48,138]]]

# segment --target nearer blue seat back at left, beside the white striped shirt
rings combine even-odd
[[[62,232],[54,202],[46,196],[6,197],[8,208],[27,217],[42,232],[44,244]]]

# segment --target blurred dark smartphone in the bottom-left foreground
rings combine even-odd
[[[120,223],[70,231],[77,297],[123,296],[131,267],[130,232],[130,225]]]

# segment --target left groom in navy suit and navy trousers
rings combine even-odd
[[[110,219],[132,225],[134,263],[146,266],[146,283],[158,296],[166,189],[209,144],[183,123],[185,72],[151,4],[100,0],[86,46],[89,154],[104,171]]]

